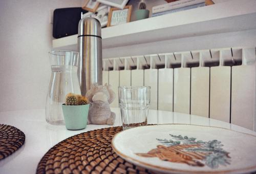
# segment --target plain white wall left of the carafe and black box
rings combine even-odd
[[[81,5],[81,0],[0,1],[0,112],[45,108],[50,10]]]

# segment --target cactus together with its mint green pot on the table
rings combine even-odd
[[[73,93],[66,96],[66,103],[62,104],[62,111],[67,129],[79,130],[86,128],[89,106],[86,97]]]

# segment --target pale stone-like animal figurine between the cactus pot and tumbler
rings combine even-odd
[[[110,111],[110,103],[116,95],[111,89],[111,85],[93,84],[86,93],[86,98],[90,102],[88,124],[108,124],[113,125],[116,114]]]

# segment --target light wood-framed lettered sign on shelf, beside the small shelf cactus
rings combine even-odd
[[[111,8],[107,27],[129,23],[131,19],[131,12],[132,5],[125,6],[122,10],[118,8]]]

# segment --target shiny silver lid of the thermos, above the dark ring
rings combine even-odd
[[[93,17],[81,18],[78,24],[78,37],[81,36],[96,36],[101,38],[99,20]]]

